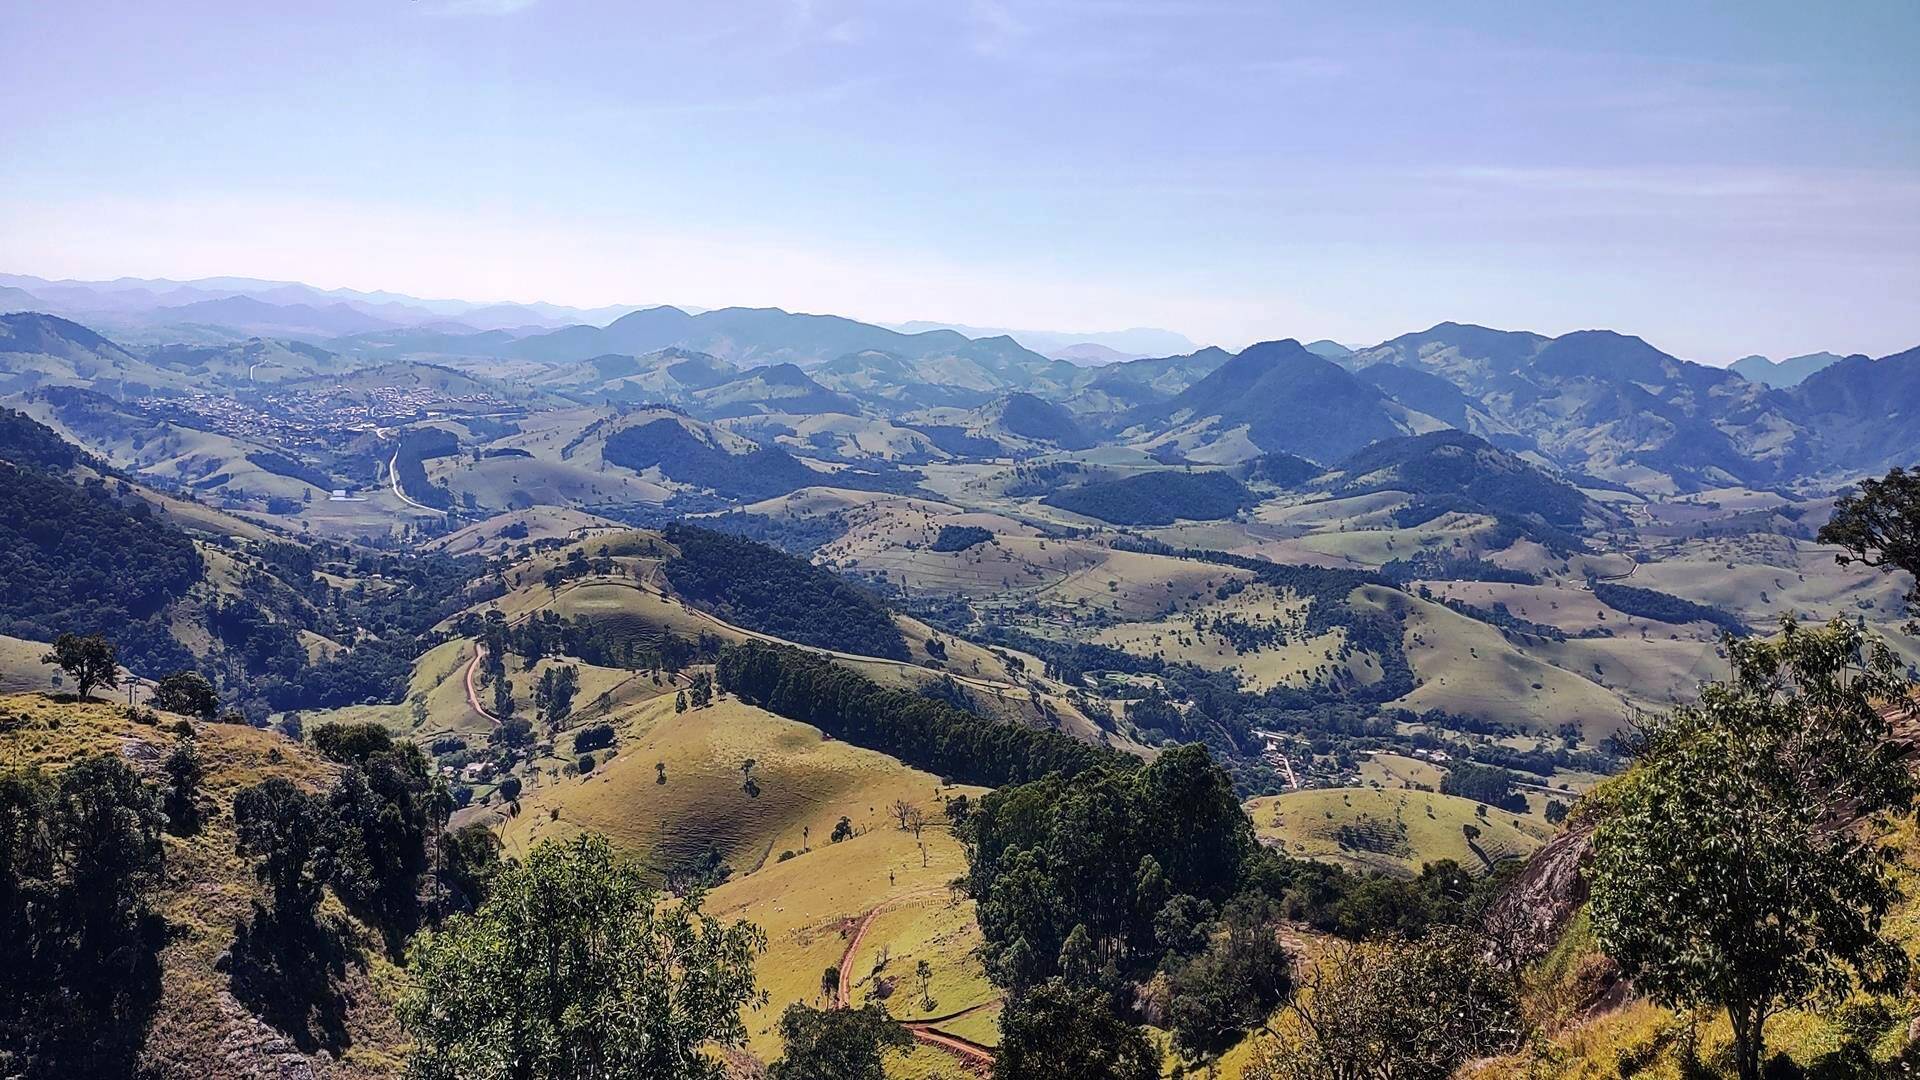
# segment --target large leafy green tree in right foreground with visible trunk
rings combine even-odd
[[[1878,819],[1912,803],[1882,711],[1910,713],[1912,686],[1845,621],[1730,648],[1734,678],[1655,723],[1599,805],[1592,919],[1655,999],[1726,1009],[1757,1080],[1776,1011],[1907,972]]]

